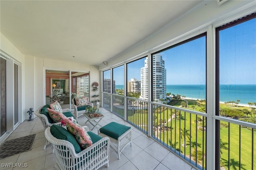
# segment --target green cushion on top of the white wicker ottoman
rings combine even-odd
[[[118,139],[122,134],[128,131],[131,127],[120,123],[111,122],[100,128],[100,133],[104,133],[114,139]]]

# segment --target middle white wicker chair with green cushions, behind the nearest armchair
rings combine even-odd
[[[39,119],[42,122],[42,125],[44,127],[44,130],[52,125],[59,125],[62,126],[62,124],[60,122],[54,122],[54,120],[52,120],[52,118],[49,116],[47,108],[50,108],[50,105],[46,104],[44,106],[39,107],[36,111],[35,111],[35,115],[37,117],[39,117]],[[74,115],[72,115],[72,113],[70,112],[70,109],[62,109],[62,113],[66,116],[66,117],[74,117]],[[75,118],[75,117],[74,117]],[[44,143],[44,149],[46,148],[46,146],[49,144],[49,142],[47,141],[47,139],[45,139],[45,143]],[[54,150],[53,150],[54,152]]]

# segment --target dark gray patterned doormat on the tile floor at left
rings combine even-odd
[[[5,141],[0,147],[0,159],[32,149],[36,134]]]

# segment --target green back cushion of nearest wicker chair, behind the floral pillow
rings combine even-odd
[[[69,131],[67,131],[64,127],[52,125],[50,131],[52,133],[52,136],[56,137],[57,139],[66,140],[72,143],[74,149],[76,150],[76,153],[81,152],[81,148],[77,143],[75,137],[71,133],[69,133]]]

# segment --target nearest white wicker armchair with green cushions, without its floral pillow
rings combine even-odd
[[[74,136],[66,129],[52,126],[45,130],[46,139],[56,150],[54,170],[96,170],[105,164],[108,167],[109,138],[101,138],[90,132],[86,126],[84,129],[90,135],[92,145],[82,151],[79,150],[76,139],[73,139]]]

